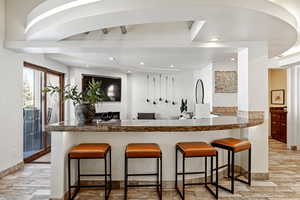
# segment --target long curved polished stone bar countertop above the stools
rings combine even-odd
[[[248,128],[262,124],[262,119],[213,117],[189,120],[117,120],[78,125],[75,121],[50,124],[48,132],[196,132]]]

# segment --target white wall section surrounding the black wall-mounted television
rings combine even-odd
[[[97,68],[71,68],[70,70],[70,84],[78,85],[79,89],[82,88],[82,74],[91,74],[98,76],[118,77],[122,79],[122,94],[121,102],[104,102],[96,106],[97,112],[120,112],[121,119],[127,119],[128,110],[128,92],[127,92],[127,74],[115,73],[112,71],[105,71]],[[75,119],[74,106],[70,106],[70,118]]]

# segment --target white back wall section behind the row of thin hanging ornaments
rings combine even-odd
[[[168,83],[168,100],[175,100],[176,105],[172,105],[170,102],[168,104],[164,102],[159,102],[159,74],[151,74],[150,75],[150,91],[149,98],[151,102],[153,102],[153,96],[155,96],[155,101],[159,102],[157,105],[153,105],[153,103],[147,103],[147,74],[146,73],[137,73],[129,76],[129,84],[131,86],[130,91],[130,108],[131,108],[131,116],[130,118],[136,118],[137,113],[139,112],[154,112],[156,113],[156,117],[158,119],[169,119],[178,117],[180,114],[180,103],[181,99],[188,100],[188,111],[194,112],[194,74],[193,71],[187,72],[178,72],[175,74],[163,74],[162,81],[162,98],[165,100],[166,92],[165,92],[165,79],[164,77],[174,77],[175,85],[174,85],[174,98],[172,94],[172,84],[169,81]],[[153,93],[153,77],[156,78],[156,92],[155,95]],[[170,78],[169,78],[170,80]]]

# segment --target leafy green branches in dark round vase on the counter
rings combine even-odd
[[[101,88],[101,82],[94,80],[89,82],[87,89],[83,92],[80,92],[77,86],[70,85],[63,89],[56,86],[48,86],[44,89],[44,92],[50,95],[62,93],[64,101],[71,100],[75,106],[75,118],[79,124],[91,123],[96,113],[95,104],[108,98]]]

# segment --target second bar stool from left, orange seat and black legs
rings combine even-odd
[[[139,158],[155,158],[156,173],[149,174],[129,174],[128,160]],[[156,176],[156,184],[147,185],[129,185],[129,176]],[[160,147],[153,143],[131,143],[128,144],[125,151],[125,199],[127,199],[128,187],[156,187],[159,199],[162,199],[162,153]]]

